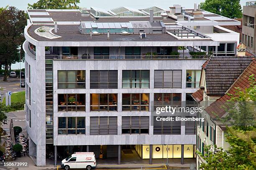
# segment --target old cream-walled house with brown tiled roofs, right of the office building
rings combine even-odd
[[[218,117],[225,116],[225,105],[230,100],[228,94],[235,93],[235,87],[241,90],[250,87],[248,78],[256,77],[256,60],[251,57],[211,57],[202,66],[200,89],[192,94],[198,106],[204,111],[198,117],[204,117],[205,122],[197,124],[197,150],[203,155],[204,146],[214,145],[228,151],[229,144],[225,142],[226,127]],[[217,117],[218,115],[218,117]],[[197,169],[205,161],[197,154]]]

